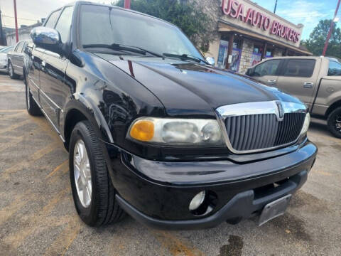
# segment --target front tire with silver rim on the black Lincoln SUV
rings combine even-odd
[[[79,164],[79,168],[77,168],[76,163],[77,159],[79,159],[82,154],[80,154],[81,151],[78,150],[78,146],[81,148],[83,147],[83,152],[87,154],[88,159],[88,161],[85,161],[84,159],[86,158],[83,157],[83,165]],[[85,155],[85,153],[83,153],[83,155]],[[87,225],[97,227],[116,223],[121,220],[125,213],[115,201],[114,187],[112,186],[112,181],[109,177],[107,164],[104,160],[99,140],[88,121],[77,123],[72,130],[70,137],[69,163],[72,196],[80,218]],[[82,163],[82,161],[80,161],[80,163]],[[90,171],[89,168],[85,168],[86,171],[82,172],[82,174],[85,175],[81,175],[81,172],[77,171],[82,169],[81,166],[90,166]],[[82,176],[83,179],[76,178],[75,174],[78,177]],[[88,174],[91,174],[91,181],[89,181]],[[77,182],[76,179],[79,182]],[[81,188],[77,188],[77,186],[82,187],[83,192],[81,192]],[[90,198],[90,201],[87,200],[88,198]]]

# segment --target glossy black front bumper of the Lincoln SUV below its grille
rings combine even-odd
[[[283,156],[236,164],[150,161],[114,146],[107,149],[121,208],[141,223],[164,229],[212,228],[259,214],[267,203],[303,186],[317,154],[316,146],[306,142]],[[196,216],[188,206],[203,190],[215,195],[214,208]]]

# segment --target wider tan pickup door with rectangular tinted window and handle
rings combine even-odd
[[[310,107],[315,87],[318,86],[320,58],[286,59],[278,75],[276,87],[298,97]]]

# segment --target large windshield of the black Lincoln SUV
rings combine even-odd
[[[179,28],[156,18],[107,6],[82,5],[82,46],[112,43],[163,53],[202,55]]]

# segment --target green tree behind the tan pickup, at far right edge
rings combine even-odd
[[[325,46],[325,39],[328,36],[330,23],[332,20],[321,20],[318,23],[312,33],[310,33],[309,39],[303,41],[303,45],[310,50],[314,55],[321,55],[323,53],[323,47]],[[328,49],[325,55],[341,58],[341,29],[334,24],[332,29],[332,36],[328,44]]]

